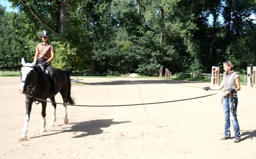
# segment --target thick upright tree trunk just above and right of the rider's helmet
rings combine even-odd
[[[67,22],[67,0],[61,0],[61,16],[58,33],[64,33]]]

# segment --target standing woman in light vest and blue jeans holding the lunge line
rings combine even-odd
[[[226,140],[230,138],[230,116],[232,120],[232,124],[235,131],[235,141],[234,142],[240,142],[241,141],[241,135],[240,135],[240,127],[237,120],[237,104],[238,104],[238,98],[237,98],[237,91],[240,91],[240,78],[239,74],[233,71],[233,64],[231,61],[226,61],[223,63],[223,80],[219,87],[217,88],[210,88],[210,87],[204,87],[204,90],[221,90],[224,87],[224,94],[223,94],[223,113],[224,113],[224,125],[225,125],[225,131],[224,131],[224,137],[221,140]]]

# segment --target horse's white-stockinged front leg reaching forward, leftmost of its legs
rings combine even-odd
[[[28,127],[28,121],[29,121],[30,113],[31,113],[31,109],[32,109],[32,103],[33,103],[32,99],[26,98],[26,115],[25,115],[25,119],[24,119],[22,134],[20,136],[20,141],[27,139],[27,127]]]

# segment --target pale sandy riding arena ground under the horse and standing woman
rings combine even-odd
[[[209,83],[133,78],[85,78],[72,84],[77,105],[125,105],[187,99],[218,93],[197,87]],[[223,137],[222,93],[172,103],[121,106],[57,106],[55,127],[40,133],[41,106],[33,104],[27,141],[19,142],[25,117],[25,95],[19,77],[0,77],[0,159],[255,159],[256,89],[238,93],[242,141]],[[139,91],[140,89],[140,91]],[[141,92],[141,96],[140,96]],[[220,91],[219,91],[220,92]],[[56,102],[62,102],[60,94]],[[232,124],[231,124],[232,125]],[[157,127],[161,126],[161,127]]]

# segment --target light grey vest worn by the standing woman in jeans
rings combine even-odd
[[[223,84],[224,84],[224,96],[227,96],[229,94],[229,89],[234,88],[236,89],[236,80],[235,75],[238,74],[234,71],[230,71],[229,74],[226,72],[223,73]],[[233,95],[237,95],[237,93],[233,93]]]

